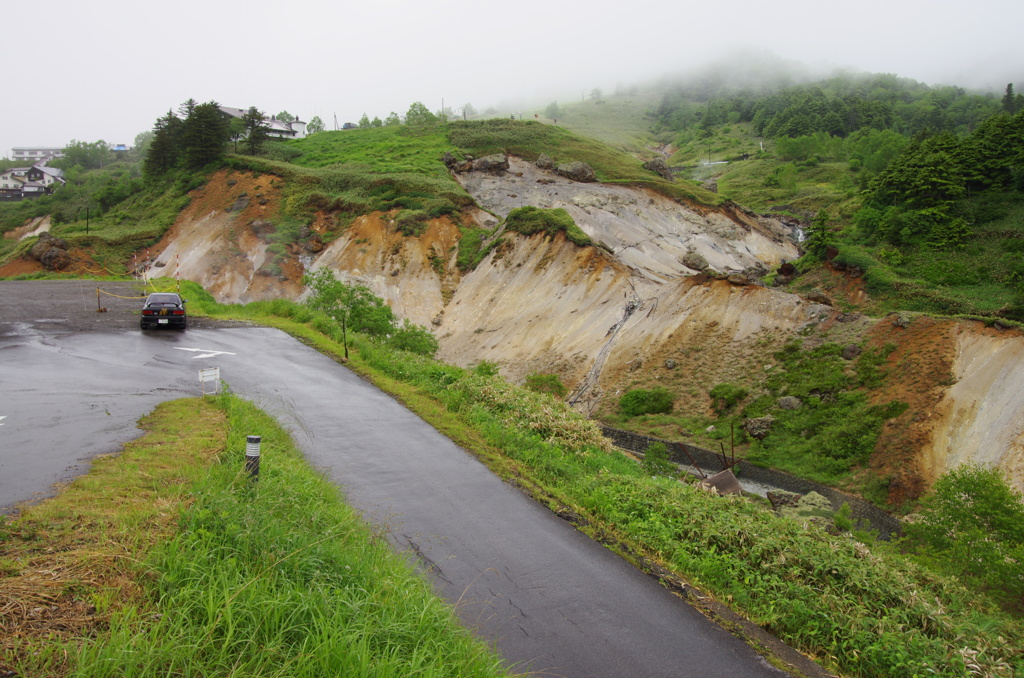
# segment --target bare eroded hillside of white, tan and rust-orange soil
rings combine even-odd
[[[892,499],[920,496],[965,460],[998,463],[1024,488],[1019,332],[923,315],[872,320],[741,280],[694,274],[683,263],[687,255],[723,273],[773,268],[798,256],[785,226],[736,208],[571,182],[514,159],[509,172],[461,179],[486,210],[464,215],[467,224],[496,226],[520,205],[562,207],[602,247],[508,232],[461,273],[459,224],[449,218],[407,237],[389,213],[364,215],[344,229],[319,213],[283,239],[281,180],[224,170],[194,193],[154,248],[156,265],[225,302],[299,297],[301,274],[328,267],[430,328],[440,358],[490,361],[514,381],[557,373],[578,406],[595,414],[629,388],[657,384],[679,394],[678,411],[707,414],[712,385],[757,388],[775,368],[773,353],[797,337],[808,344],[892,344],[885,367],[893,378],[879,397],[910,408],[885,427],[871,461]]]

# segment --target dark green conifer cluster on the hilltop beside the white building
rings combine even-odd
[[[245,153],[256,155],[268,138],[267,130],[264,115],[256,107],[250,107],[241,119],[228,119],[216,101],[188,99],[178,113],[168,111],[157,119],[143,171],[155,177],[176,168],[201,169],[219,160],[229,142],[236,151],[241,142]]]

